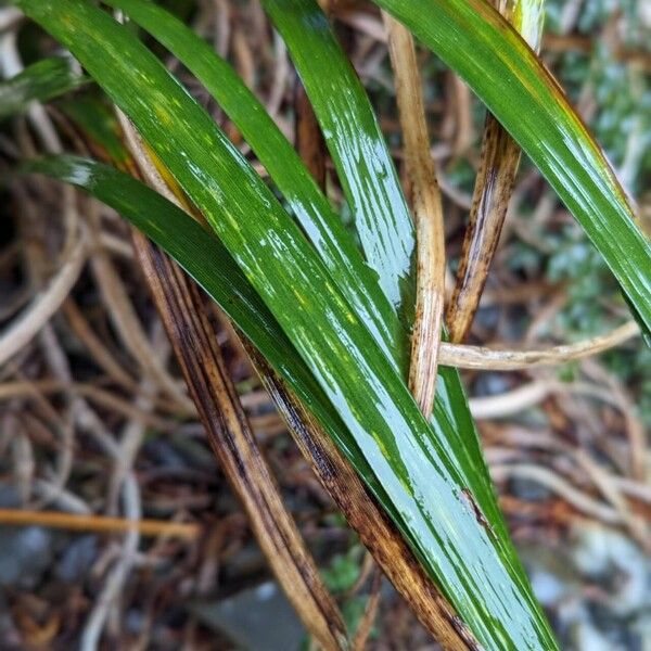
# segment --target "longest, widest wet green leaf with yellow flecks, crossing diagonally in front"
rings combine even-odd
[[[105,13],[82,0],[20,4],[81,61],[202,210],[346,423],[397,525],[482,643],[553,648],[511,547],[465,492],[457,451],[432,437],[401,376],[239,151]]]

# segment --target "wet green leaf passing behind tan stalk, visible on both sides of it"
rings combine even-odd
[[[327,16],[314,0],[266,0],[264,5],[285,39],[302,76],[348,202],[358,205],[369,225],[376,224],[370,227],[367,256],[372,248],[379,258],[393,259],[392,268],[405,270],[393,277],[396,286],[401,285],[406,291],[403,305],[395,302],[391,283],[385,282],[383,288],[410,331],[414,302],[411,276],[414,226],[368,95],[342,52]],[[358,194],[368,194],[368,199],[357,200]],[[404,343],[404,349],[408,352],[408,342]],[[405,378],[408,374],[406,358],[407,355],[400,356]],[[433,427],[445,423],[447,439],[456,438],[452,445],[457,449],[460,472],[488,521],[506,536],[457,370],[439,368],[438,385],[443,391],[435,400]],[[451,423],[463,423],[464,426],[455,427]]]

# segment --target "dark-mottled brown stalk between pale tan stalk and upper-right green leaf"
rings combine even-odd
[[[511,18],[512,3],[495,0],[494,5],[507,20]],[[463,238],[457,283],[446,314],[452,343],[465,339],[480,305],[513,191],[520,154],[515,141],[489,113],[484,126],[480,169]]]

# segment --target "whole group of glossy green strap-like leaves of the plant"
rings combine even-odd
[[[601,149],[509,22],[483,0],[375,3],[468,81],[601,256],[596,263],[584,242],[566,245],[550,258],[550,277],[604,265],[641,326],[651,327],[651,244]],[[414,225],[366,91],[318,4],[263,0],[302,76],[356,237],[228,63],[170,13],[146,0],[103,2],[196,76],[272,188],[136,31],[98,3],[17,4],[131,120],[186,203],[179,207],[126,174],[129,156],[119,142],[104,146],[114,152],[113,166],[60,155],[23,170],[114,207],[221,306],[362,478],[450,604],[459,638],[472,639],[467,648],[554,649],[507,533],[457,371],[439,369],[431,419],[409,392]],[[541,11],[541,2],[514,4],[515,13],[536,18]],[[342,578],[334,570],[331,582]]]

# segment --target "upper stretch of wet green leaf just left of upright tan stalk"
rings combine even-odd
[[[312,0],[263,0],[319,120],[367,261],[388,299],[413,309],[416,240],[384,136],[328,18]]]

